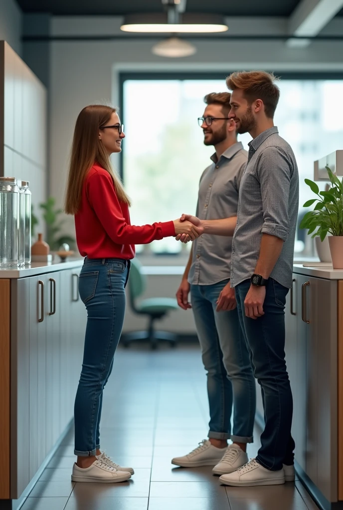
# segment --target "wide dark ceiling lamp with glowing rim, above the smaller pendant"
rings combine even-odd
[[[213,33],[228,30],[223,16],[184,13],[180,23],[168,23],[166,14],[133,14],[126,16],[120,30],[143,33]]]

